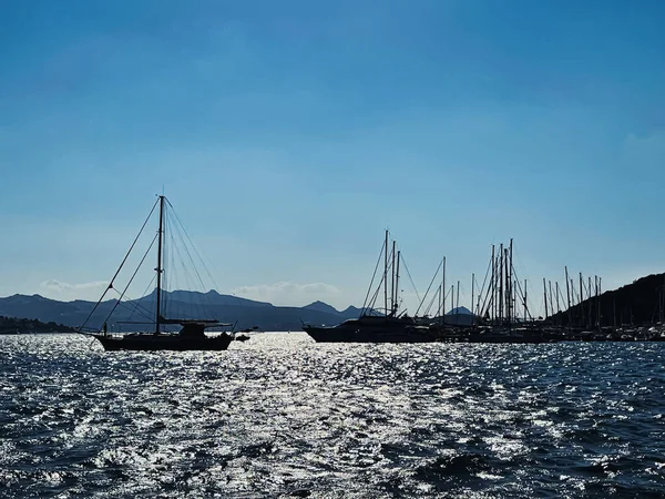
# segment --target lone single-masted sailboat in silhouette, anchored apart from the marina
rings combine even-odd
[[[164,317],[164,289],[163,289],[163,275],[164,275],[164,234],[165,234],[165,207],[166,204],[171,206],[171,203],[164,195],[158,196],[157,202],[153,205],[153,208],[146,218],[141,232],[134,240],[134,243],[130,247],[130,251],[125,255],[120,268],[116,271],[113,279],[109,284],[109,287],[92,309],[85,323],[79,328],[79,333],[91,335],[96,338],[105,350],[225,350],[228,348],[231,343],[234,340],[233,333],[225,329],[232,326],[232,324],[223,324],[212,318],[167,318]],[[125,296],[131,281],[136,275],[137,269],[132,275],[130,284],[120,293],[120,299],[115,302],[111,313],[103,320],[103,325],[96,333],[85,333],[85,325],[90,322],[93,314],[98,310],[100,304],[102,304],[106,294],[114,289],[114,281],[119,276],[121,269],[132,253],[136,241],[145,230],[147,222],[150,221],[155,207],[158,205],[158,230],[157,230],[157,266],[155,267],[156,273],[156,288],[154,293],[154,309],[152,310],[153,317],[150,323],[132,323],[132,324],[154,324],[154,329],[144,333],[131,333],[125,335],[109,334],[108,320],[114,313],[116,307],[121,304],[122,298]],[[154,244],[154,238],[153,238]],[[152,245],[151,244],[151,248]],[[150,252],[150,248],[149,248]],[[141,259],[141,263],[147,256],[146,254]],[[141,264],[140,264],[141,265]],[[134,302],[134,307],[140,306],[139,303]],[[146,310],[143,310],[144,316]],[[180,326],[178,332],[173,332],[174,326]],[[207,335],[206,329],[208,328],[222,328],[221,333],[215,335]]]

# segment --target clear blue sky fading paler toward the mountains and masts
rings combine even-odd
[[[98,298],[162,192],[276,305],[361,305],[386,228],[462,304],[511,237],[533,296],[665,272],[662,1],[0,9],[0,296]]]

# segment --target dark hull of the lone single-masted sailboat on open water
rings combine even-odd
[[[222,334],[213,337],[182,337],[177,335],[153,335],[153,334],[133,334],[125,336],[94,335],[102,344],[104,350],[134,350],[134,352],[187,352],[205,350],[217,352],[226,350],[233,342],[233,337]]]

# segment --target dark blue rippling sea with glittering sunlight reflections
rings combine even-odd
[[[665,345],[0,337],[7,497],[663,497]]]

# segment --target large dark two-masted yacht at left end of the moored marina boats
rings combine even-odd
[[[389,255],[390,253],[390,255]],[[392,252],[388,247],[388,231],[379,261],[383,256],[383,276],[369,306],[364,306],[360,317],[345,320],[336,326],[303,325],[317,343],[430,343],[438,340],[438,334],[427,326],[419,325],[413,317],[399,313],[399,265],[400,252],[392,242]],[[390,263],[391,261],[391,263]],[[379,262],[377,262],[378,268]],[[375,269],[376,276],[376,269]],[[390,299],[388,298],[388,279],[391,277]],[[371,291],[372,282],[369,285]],[[385,313],[377,313],[374,303],[383,287]],[[369,293],[368,291],[368,297]],[[367,298],[366,298],[367,302]],[[367,305],[367,303],[366,303]]]

